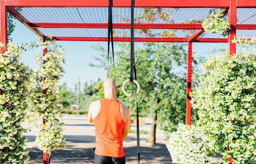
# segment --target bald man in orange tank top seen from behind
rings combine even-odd
[[[94,164],[125,164],[123,140],[130,126],[130,111],[116,99],[117,84],[106,79],[104,98],[90,104],[88,122],[95,126]]]

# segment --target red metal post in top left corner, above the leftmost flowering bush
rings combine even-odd
[[[7,44],[7,9],[5,6],[5,1],[0,1],[0,41]],[[3,53],[5,47],[1,47],[1,53]]]

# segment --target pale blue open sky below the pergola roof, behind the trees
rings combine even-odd
[[[37,40],[36,34],[18,20],[16,20],[16,28],[11,37],[14,43],[29,43]],[[78,79],[81,79],[81,86],[83,86],[84,83],[82,80],[87,80],[90,84],[91,81],[95,82],[99,78],[101,80],[106,79],[106,70],[89,67],[88,63],[96,63],[97,61],[93,59],[93,56],[100,56],[100,52],[92,49],[90,45],[100,44],[103,47],[107,47],[108,42],[57,41],[56,43],[61,45],[65,50],[64,58],[65,61],[68,62],[68,64],[63,65],[65,75],[61,78],[59,84],[66,82],[67,87],[74,90]],[[193,43],[192,49],[199,55],[207,55],[207,51],[212,47],[226,48],[227,43]],[[34,63],[34,58],[36,52],[37,50],[24,51],[21,56],[21,62],[35,69],[36,63]]]

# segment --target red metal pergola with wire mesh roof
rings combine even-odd
[[[112,0],[115,42],[130,42],[131,0]],[[231,23],[226,38],[204,31],[212,9],[225,9]],[[0,41],[7,44],[7,12],[34,33],[55,40],[108,41],[108,0],[0,0]],[[256,35],[256,0],[135,0],[135,42],[187,42],[186,124],[191,124],[192,43],[227,42]],[[164,35],[163,35],[164,34]],[[2,49],[1,49],[2,50]]]

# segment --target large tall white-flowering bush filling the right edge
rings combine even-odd
[[[220,164],[248,164],[256,160],[256,38],[233,42],[240,52],[209,58],[202,65],[208,75],[190,96],[197,126],[209,138],[207,150],[222,153]]]

